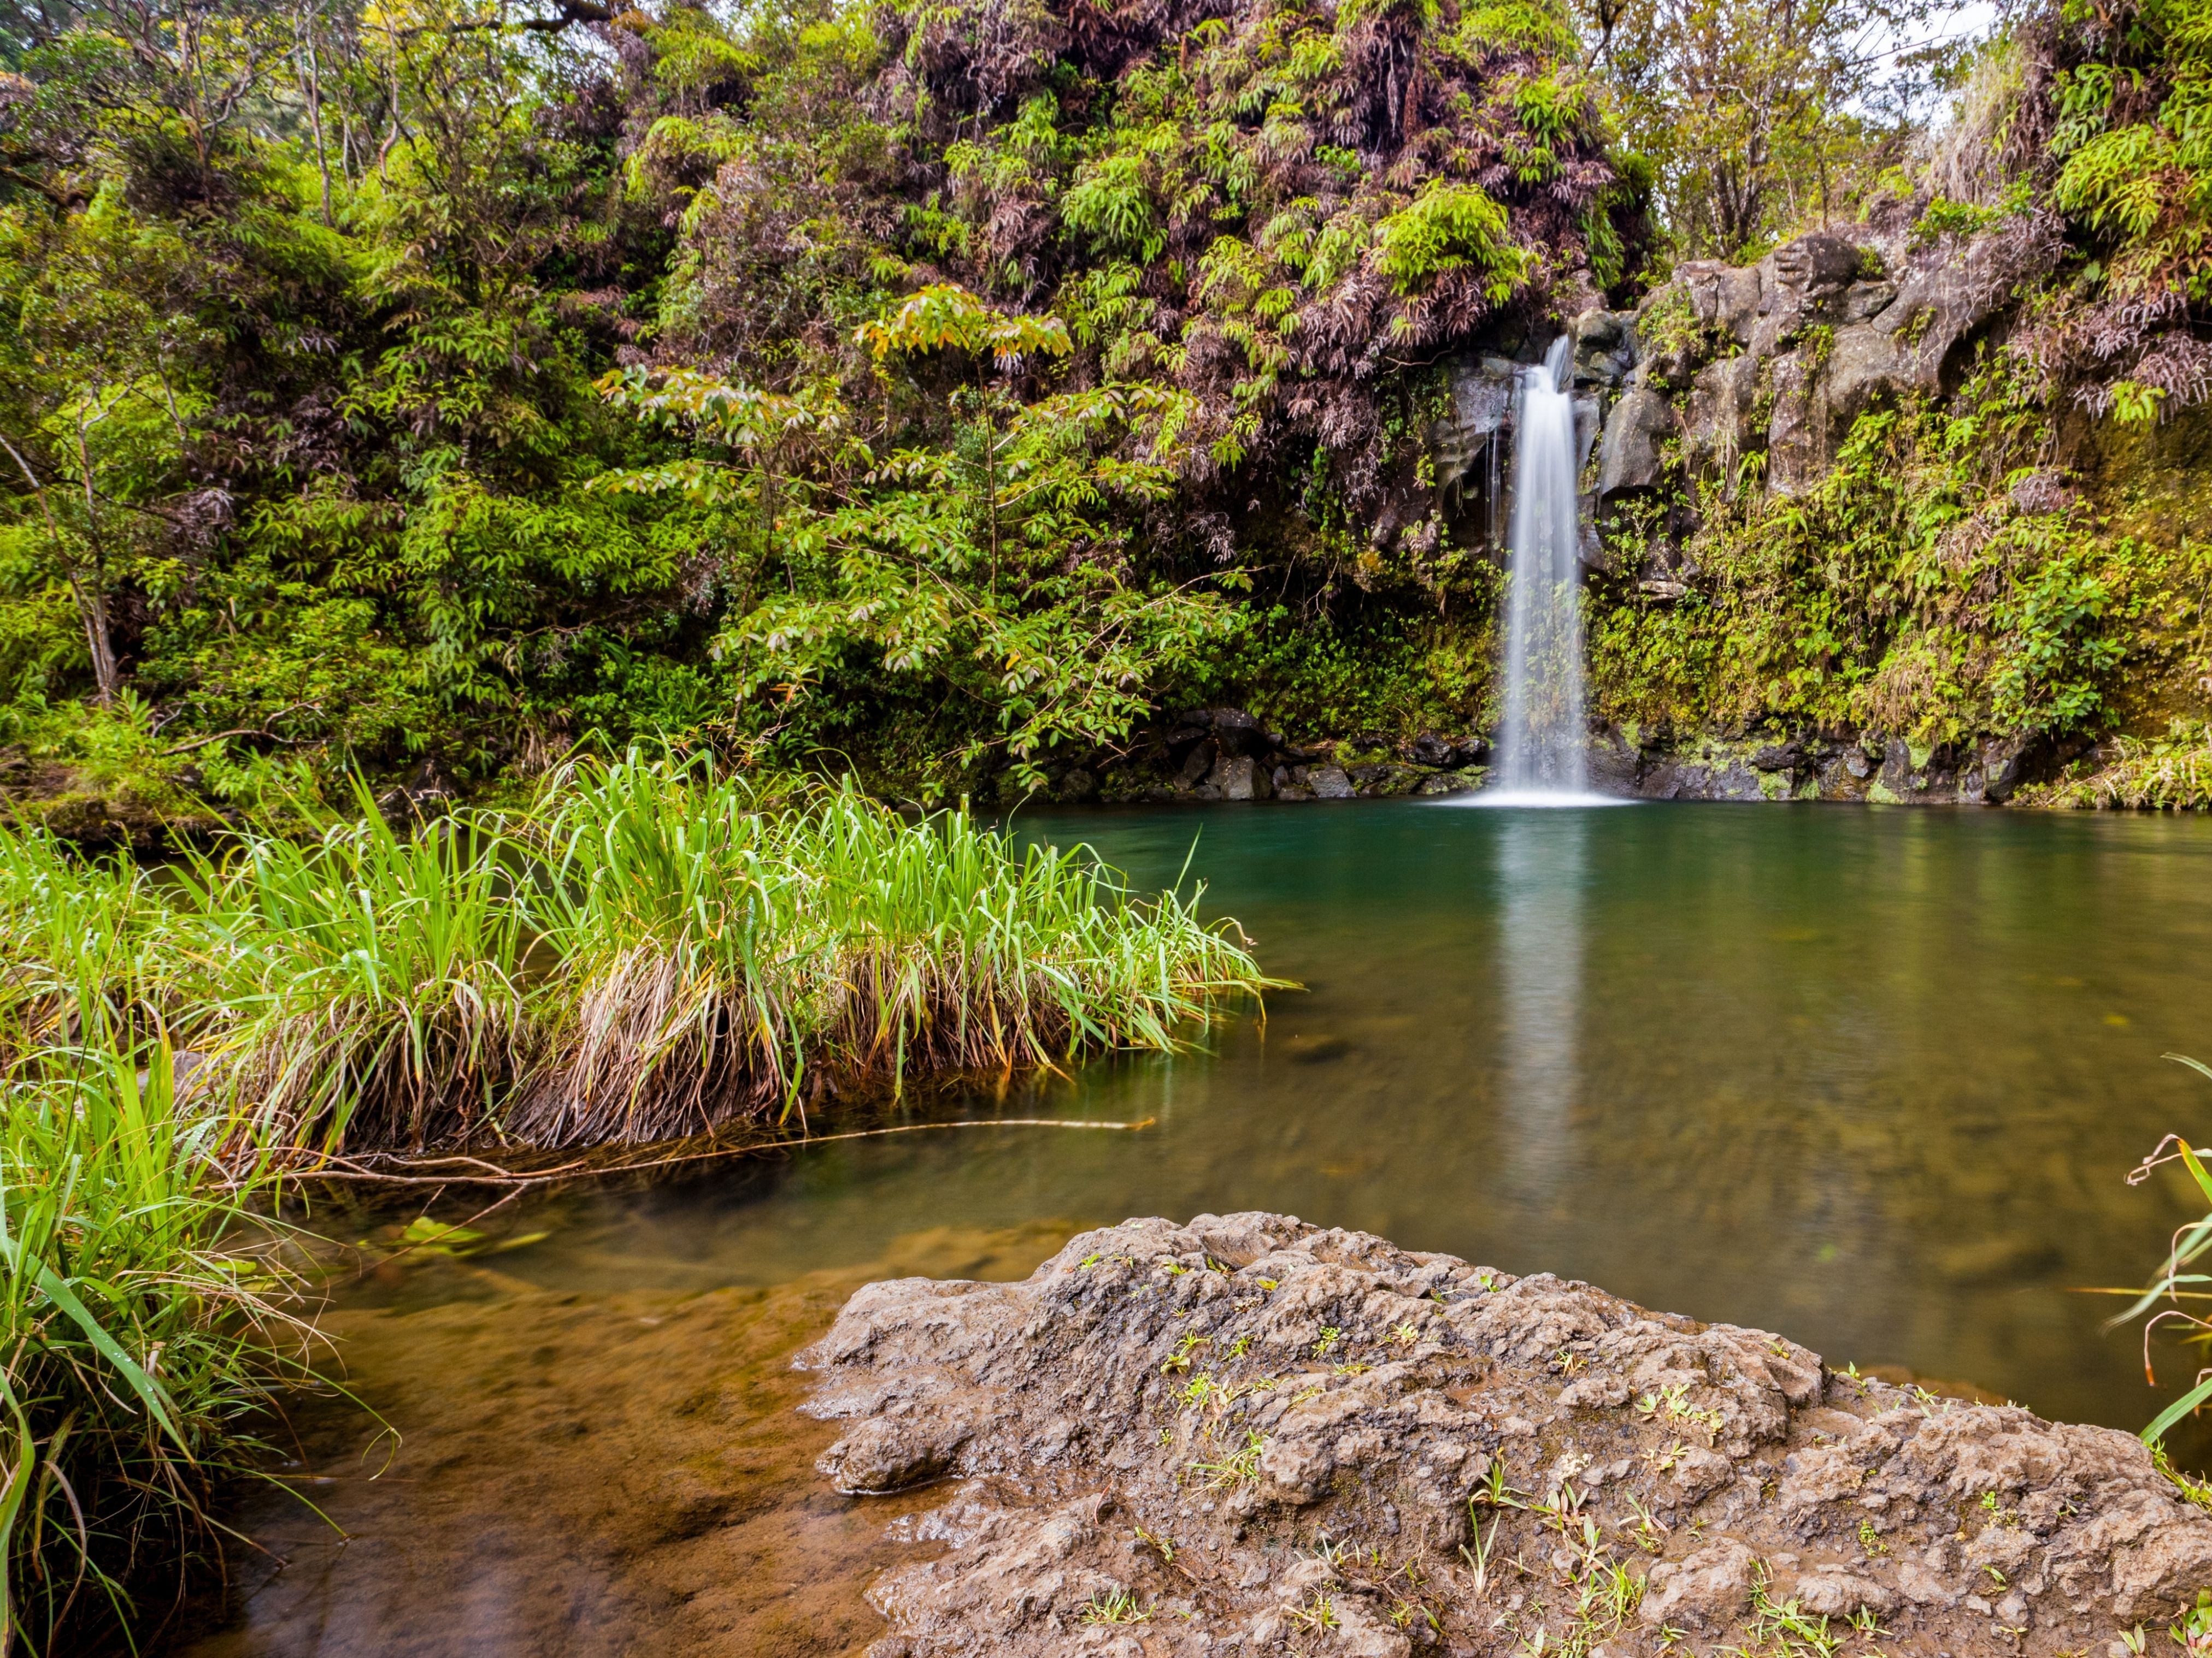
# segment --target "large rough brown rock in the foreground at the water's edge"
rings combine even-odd
[[[799,1362],[838,1490],[958,1481],[874,1658],[2106,1658],[2212,1585],[2124,1433],[1272,1214],[872,1284]]]

